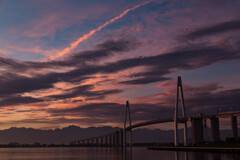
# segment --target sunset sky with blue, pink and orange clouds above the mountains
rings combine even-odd
[[[239,6],[0,0],[0,129],[173,117],[177,76],[188,116],[240,110]]]

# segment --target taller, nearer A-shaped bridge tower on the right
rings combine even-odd
[[[179,90],[181,94],[181,103],[182,103],[182,116],[186,117],[185,104],[184,104],[184,96],[183,96],[183,88],[182,88],[182,80],[181,77],[178,76],[177,79],[177,94],[176,94],[176,104],[175,104],[175,114],[174,114],[174,143],[175,146],[178,146],[178,101],[179,101]],[[184,146],[187,146],[187,121],[184,121]]]

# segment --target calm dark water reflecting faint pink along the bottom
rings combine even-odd
[[[0,148],[0,160],[240,160],[240,154],[113,148]]]

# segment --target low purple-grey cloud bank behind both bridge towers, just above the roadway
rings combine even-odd
[[[223,112],[237,111],[240,109],[240,89],[223,90],[224,88],[217,83],[197,87],[184,85],[183,89],[188,116],[198,115],[199,113],[214,114],[217,113],[218,109],[221,109]],[[130,102],[133,123],[144,120],[173,117],[175,92],[175,89],[171,90],[170,94],[165,95],[162,100],[159,100],[159,103],[155,104],[132,104]],[[124,117],[124,109],[125,104],[91,103],[70,109],[48,109],[47,112],[53,117],[87,117],[83,118],[84,124],[91,125],[108,122],[121,123]],[[79,121],[82,122],[81,119],[79,119]]]

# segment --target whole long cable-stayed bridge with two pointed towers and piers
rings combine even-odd
[[[182,106],[182,117],[178,117],[178,106],[179,106],[179,96],[181,99]],[[71,142],[72,145],[87,145],[87,146],[98,146],[98,147],[127,147],[132,146],[132,130],[149,126],[153,124],[161,124],[167,122],[174,122],[174,144],[179,146],[178,141],[178,124],[184,124],[184,146],[197,145],[204,141],[204,127],[206,127],[206,120],[209,119],[211,122],[211,141],[217,142],[220,140],[220,129],[219,129],[219,118],[230,118],[231,119],[231,136],[235,140],[238,139],[238,126],[237,126],[237,116],[240,115],[240,111],[236,112],[225,112],[209,115],[197,115],[197,116],[186,116],[183,88],[181,77],[177,80],[177,94],[176,94],[176,104],[175,112],[173,118],[165,119],[155,119],[150,121],[145,121],[141,123],[131,124],[130,107],[129,102],[126,101],[125,114],[124,114],[124,127],[118,129],[114,132],[110,132],[101,136],[90,137],[86,139],[76,140]],[[129,126],[127,125],[127,120]],[[188,133],[187,133],[187,122],[190,122],[192,128],[192,142],[188,143]]]

